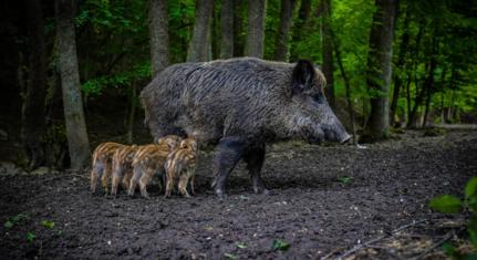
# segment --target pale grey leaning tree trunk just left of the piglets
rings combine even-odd
[[[56,0],[56,40],[61,85],[63,92],[66,137],[71,167],[82,169],[90,158],[90,143],[84,122],[80,91],[74,13],[76,1]]]

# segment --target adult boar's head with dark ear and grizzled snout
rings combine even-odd
[[[345,143],[351,136],[334,115],[323,94],[325,80],[313,64],[300,60],[291,75],[291,105],[288,110],[293,135],[310,143]]]

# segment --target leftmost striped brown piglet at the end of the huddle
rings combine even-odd
[[[100,144],[94,149],[91,166],[91,191],[96,193],[97,181],[101,178],[103,191],[107,194],[107,186],[111,179],[112,158],[114,153],[124,147],[122,144],[107,142]]]

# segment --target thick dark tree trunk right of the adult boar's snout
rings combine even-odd
[[[376,0],[376,7],[367,54],[366,82],[371,95],[371,116],[366,128],[372,138],[381,139],[390,134],[388,92],[397,0]]]

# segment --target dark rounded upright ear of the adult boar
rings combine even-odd
[[[292,94],[298,94],[310,89],[315,73],[314,66],[310,61],[298,61],[297,65],[293,67],[293,73],[291,74]]]

